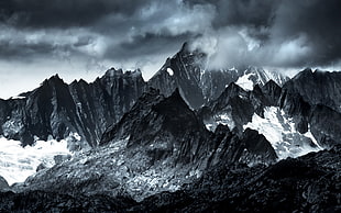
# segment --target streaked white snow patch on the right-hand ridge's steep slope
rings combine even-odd
[[[244,130],[248,127],[263,134],[274,147],[279,159],[298,157],[322,149],[317,144],[310,128],[305,134],[297,132],[293,119],[279,108],[266,108],[264,119],[254,114],[252,122],[243,126]]]

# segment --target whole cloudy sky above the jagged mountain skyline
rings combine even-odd
[[[147,79],[186,41],[215,69],[339,69],[340,9],[340,0],[0,1],[0,97],[56,72],[91,81],[140,67]]]

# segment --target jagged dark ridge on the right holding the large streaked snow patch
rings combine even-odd
[[[279,158],[286,158],[334,144],[331,138],[338,133],[332,131],[338,130],[338,124],[333,127],[319,125],[319,112],[312,113],[310,109],[317,108],[272,80],[262,88],[256,85],[251,91],[232,82],[217,100],[199,110],[198,115],[210,131],[219,124],[228,125],[239,135],[246,128],[255,130],[266,137]]]

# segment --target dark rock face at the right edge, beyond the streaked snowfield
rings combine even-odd
[[[284,85],[278,101],[294,117],[297,130],[306,133],[310,127],[322,146],[340,143],[339,78],[339,72],[305,69]]]

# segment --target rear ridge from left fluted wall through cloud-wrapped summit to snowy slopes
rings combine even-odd
[[[56,75],[31,92],[0,100],[0,135],[21,141],[23,146],[50,136],[68,138],[69,148],[78,150],[97,146],[107,127],[119,122],[148,87],[166,97],[178,88],[186,103],[199,109],[243,76],[261,85],[268,79],[286,80],[255,67],[245,71],[206,70],[207,59],[206,54],[191,51],[185,43],[147,82],[139,69],[123,72],[112,68],[90,83],[80,79],[67,85]]]

